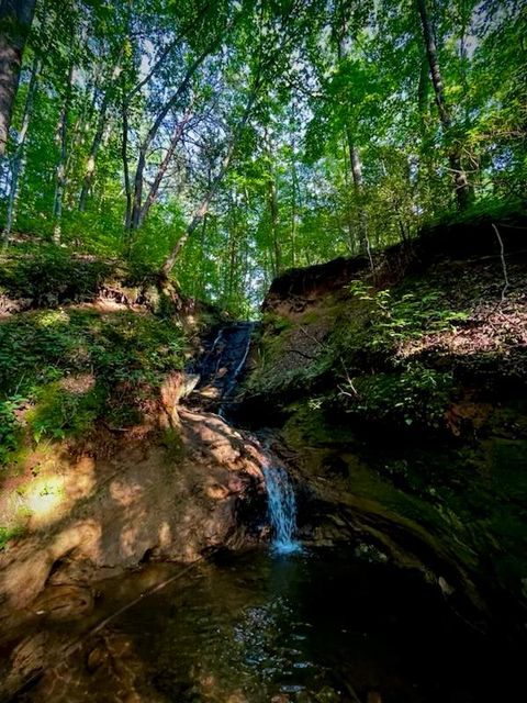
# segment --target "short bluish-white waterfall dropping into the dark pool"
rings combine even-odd
[[[296,531],[296,501],[285,469],[265,464],[262,473],[267,488],[268,515],[274,536],[272,546],[278,554],[291,554],[301,549],[294,539]]]

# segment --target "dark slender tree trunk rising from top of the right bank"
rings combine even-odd
[[[445,86],[442,83],[441,71],[439,69],[439,59],[437,56],[436,42],[431,30],[430,18],[426,9],[426,0],[416,0],[419,11],[421,23],[423,26],[423,36],[425,40],[426,56],[430,69],[431,83],[436,96],[436,105],[439,114],[444,134],[447,134],[452,125],[450,111],[445,100]],[[470,203],[472,198],[472,188],[467,178],[467,172],[461,163],[461,152],[459,146],[453,146],[448,155],[448,163],[452,172],[453,186],[456,189],[456,198],[458,208],[463,210]]]

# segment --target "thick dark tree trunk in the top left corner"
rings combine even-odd
[[[36,0],[0,2],[0,156],[5,154],[22,54],[33,22]]]

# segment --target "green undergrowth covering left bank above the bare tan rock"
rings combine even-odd
[[[146,312],[65,308],[1,322],[0,462],[100,421],[139,422],[165,375],[182,368],[184,347],[177,323]]]

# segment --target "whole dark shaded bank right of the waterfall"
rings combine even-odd
[[[277,279],[240,417],[277,428],[306,538],[423,571],[525,636],[525,221]]]

